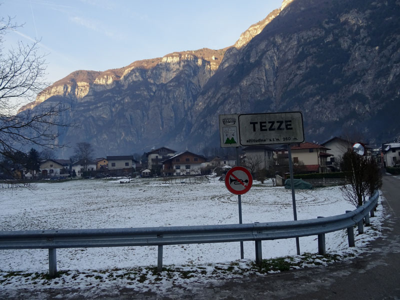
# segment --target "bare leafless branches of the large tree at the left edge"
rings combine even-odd
[[[57,126],[68,126],[59,121],[61,112],[68,109],[61,104],[24,109],[21,104],[32,101],[46,86],[44,55],[38,51],[39,41],[19,42],[4,51],[4,36],[19,27],[12,19],[0,17],[0,154],[5,157],[29,145],[61,147],[55,144]],[[2,172],[9,172],[0,164]]]

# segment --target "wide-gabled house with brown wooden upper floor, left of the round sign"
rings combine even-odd
[[[189,151],[180,152],[162,162],[162,171],[167,176],[198,175],[205,166],[205,157]]]

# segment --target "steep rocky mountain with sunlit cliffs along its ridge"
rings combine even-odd
[[[232,46],[75,71],[21,110],[67,103],[61,117],[79,127],[57,142],[88,141],[98,156],[219,146],[224,113],[302,111],[306,140],[355,131],[392,140],[400,137],[399,18],[399,0],[285,0]]]

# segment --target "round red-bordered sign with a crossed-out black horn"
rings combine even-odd
[[[226,188],[236,195],[246,193],[253,183],[250,172],[242,166],[234,166],[225,175]]]

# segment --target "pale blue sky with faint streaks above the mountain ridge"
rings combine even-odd
[[[17,30],[4,48],[40,40],[47,82],[74,70],[103,71],[173,51],[234,44],[240,33],[263,19],[281,0],[2,0],[0,17],[13,17]]]

